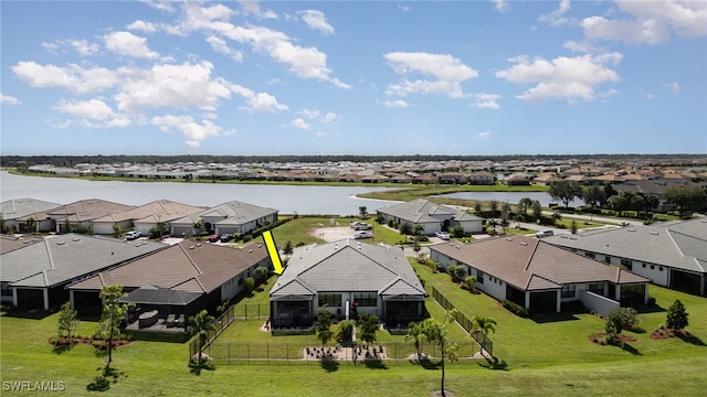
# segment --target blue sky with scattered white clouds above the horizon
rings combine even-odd
[[[707,153],[705,1],[2,1],[2,154]]]

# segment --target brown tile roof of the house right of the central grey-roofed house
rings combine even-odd
[[[536,238],[515,235],[462,244],[430,246],[461,264],[469,265],[521,290],[556,289],[567,283],[611,281],[647,282],[648,279],[572,254]]]

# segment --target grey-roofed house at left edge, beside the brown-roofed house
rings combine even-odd
[[[2,300],[24,310],[49,310],[68,300],[68,283],[166,247],[73,233],[28,244],[0,256]]]

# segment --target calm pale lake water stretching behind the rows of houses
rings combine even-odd
[[[13,175],[0,171],[0,201],[35,198],[59,204],[80,200],[101,198],[128,205],[144,205],[156,200],[196,205],[215,206],[230,201],[240,201],[279,211],[281,214],[356,215],[359,206],[369,214],[395,202],[359,198],[356,195],[390,187],[363,186],[310,186],[230,183],[183,182],[123,182],[87,181],[63,178]],[[523,197],[538,200],[547,206],[551,200],[547,193],[478,192],[452,193],[447,197],[467,200],[508,201],[515,204]],[[572,205],[576,205],[572,202]]]

